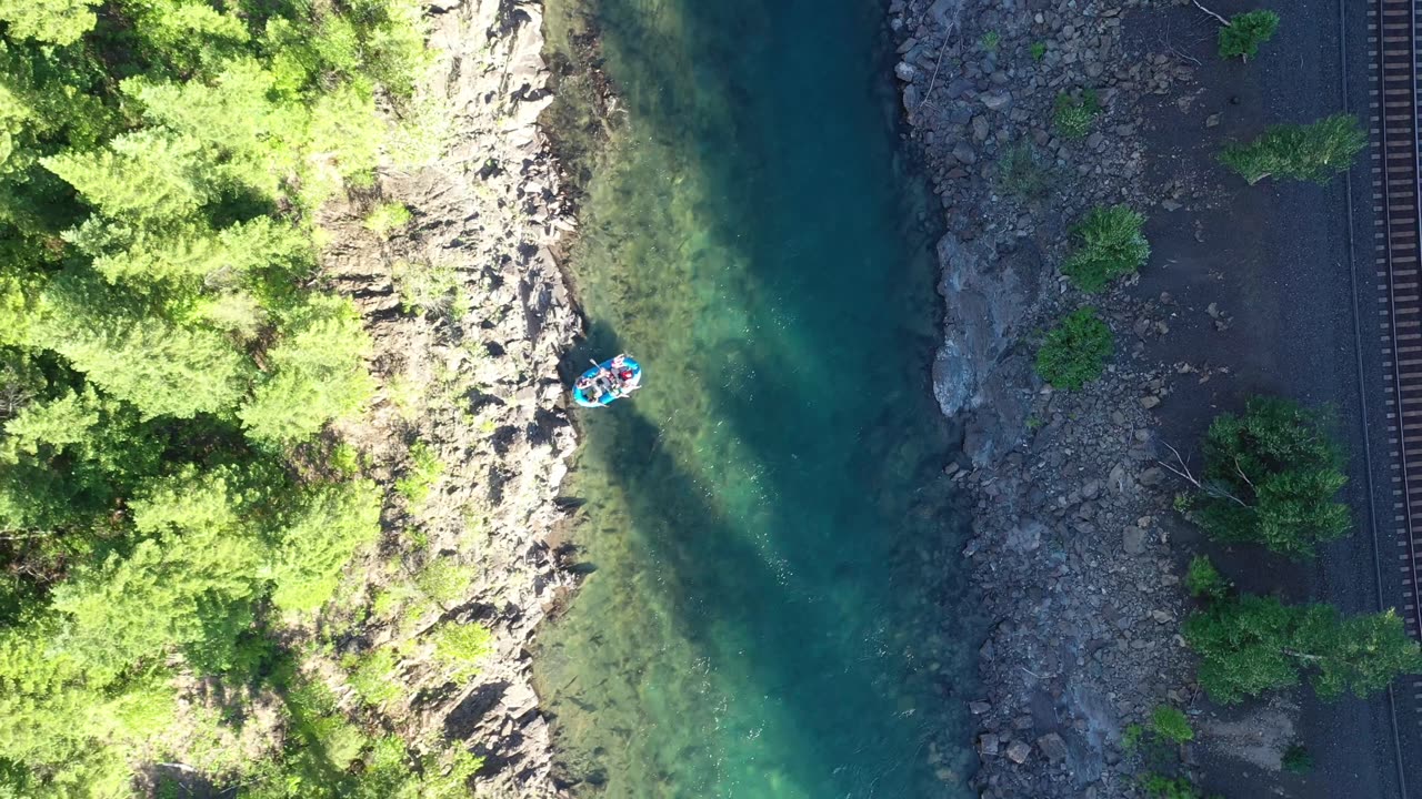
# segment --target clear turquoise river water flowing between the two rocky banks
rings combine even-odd
[[[964,796],[961,523],[876,0],[597,0],[624,115],[567,259],[644,388],[584,411],[589,576],[535,658],[589,796]],[[574,94],[572,91],[569,95]],[[577,118],[562,109],[559,118]]]

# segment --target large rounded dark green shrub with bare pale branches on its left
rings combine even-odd
[[[1204,436],[1204,475],[1192,518],[1214,539],[1260,543],[1290,557],[1347,536],[1348,482],[1325,419],[1290,400],[1254,397],[1220,414]]]

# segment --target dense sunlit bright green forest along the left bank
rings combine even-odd
[[[0,21],[0,793],[462,795],[476,758],[357,724],[293,648],[380,536],[328,428],[373,384],[316,215],[424,141],[380,111],[419,6]]]

